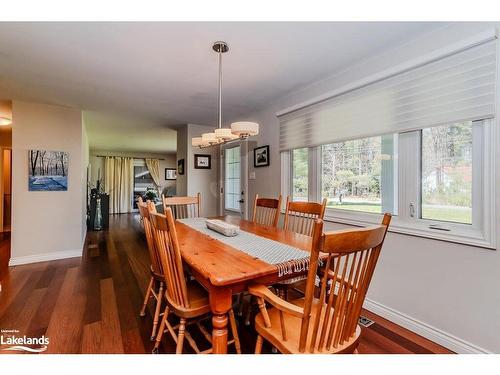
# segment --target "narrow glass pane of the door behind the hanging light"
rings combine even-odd
[[[226,210],[240,211],[240,146],[225,151],[225,199]]]

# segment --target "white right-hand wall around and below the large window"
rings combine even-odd
[[[303,87],[249,116],[246,120],[261,124],[260,134],[249,148],[249,172],[256,174],[255,180],[249,180],[250,197],[255,193],[277,196],[280,192],[276,112],[493,27],[498,28],[500,24],[462,23],[440,29]],[[253,148],[267,144],[271,166],[254,169]],[[497,151],[500,151],[500,142]],[[498,197],[500,165],[496,166],[496,182]],[[500,199],[497,199],[496,211],[500,213]],[[499,219],[497,214],[497,238],[500,238]],[[326,225],[327,230],[338,227],[340,225],[333,223]],[[368,293],[367,306],[452,350],[500,353],[500,320],[497,319],[500,316],[500,251],[390,233]]]

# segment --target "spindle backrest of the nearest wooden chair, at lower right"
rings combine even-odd
[[[390,221],[391,215],[385,214],[381,225],[325,234],[322,234],[322,220],[314,221],[300,352],[332,351],[355,337],[361,307]],[[320,252],[328,255],[321,267],[319,298],[314,299]],[[317,310],[310,324],[313,308]]]

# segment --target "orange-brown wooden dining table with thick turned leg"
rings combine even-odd
[[[256,224],[237,216],[221,216],[217,219],[238,225],[243,231],[301,250],[309,252],[311,248],[312,240],[309,236]],[[275,284],[279,279],[278,268],[180,221],[176,222],[176,230],[184,262],[189,266],[193,277],[209,293],[213,326],[212,352],[227,353],[227,313],[232,307],[232,296],[246,291],[253,283]]]

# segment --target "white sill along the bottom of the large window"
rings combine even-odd
[[[354,226],[379,224],[382,220],[381,214],[338,211],[339,210],[327,209],[327,211],[325,212],[324,220],[326,222]],[[471,227],[452,229],[450,231],[441,232],[429,228],[429,225],[434,223],[439,222],[427,220],[414,220],[412,222],[405,222],[400,220],[397,216],[393,216],[391,225],[389,226],[389,232],[496,250],[495,242],[491,239],[486,238],[482,231],[478,229]]]

